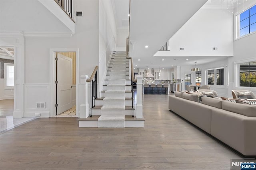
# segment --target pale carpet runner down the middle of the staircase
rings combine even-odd
[[[124,127],[126,55],[115,55],[108,71],[107,90],[101,107],[98,127]],[[128,72],[129,74],[129,72]]]

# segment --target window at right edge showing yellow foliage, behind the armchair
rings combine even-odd
[[[241,63],[240,71],[240,86],[256,87],[256,61]]]

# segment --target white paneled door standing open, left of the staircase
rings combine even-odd
[[[72,107],[72,59],[57,54],[57,115]]]

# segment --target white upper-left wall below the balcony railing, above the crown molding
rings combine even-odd
[[[38,0],[1,0],[0,23],[0,30],[22,30],[24,34],[39,32],[71,34],[71,30]]]

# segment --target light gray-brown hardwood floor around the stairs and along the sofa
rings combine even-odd
[[[240,158],[144,95],[144,128],[78,128],[75,117],[40,118],[0,134],[0,170],[230,169]]]

